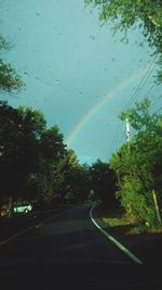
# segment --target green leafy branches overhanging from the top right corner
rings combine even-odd
[[[160,53],[162,64],[162,3],[161,0],[84,0],[86,4],[99,8],[99,17],[104,23],[110,21],[114,33],[126,31],[130,27],[139,27],[148,43]],[[162,80],[161,72],[159,80]]]

